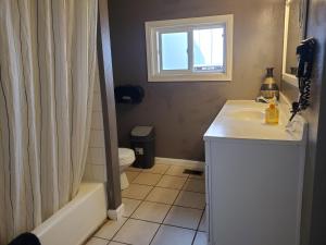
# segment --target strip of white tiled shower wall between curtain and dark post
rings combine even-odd
[[[100,94],[100,82],[97,74],[93,90],[93,106],[88,155],[84,173],[85,182],[105,182],[105,147],[102,119],[102,102]]]

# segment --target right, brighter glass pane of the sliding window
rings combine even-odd
[[[193,30],[193,70],[224,72],[224,28]]]

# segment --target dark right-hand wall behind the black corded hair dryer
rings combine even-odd
[[[317,39],[315,69],[312,79],[311,107],[303,113],[309,122],[309,145],[304,175],[302,211],[302,244],[326,244],[326,1],[311,0],[308,36]],[[298,89],[283,86],[286,95],[296,99]]]

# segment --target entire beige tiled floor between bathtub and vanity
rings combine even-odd
[[[183,167],[129,168],[124,218],[108,221],[86,245],[206,245],[204,176]]]

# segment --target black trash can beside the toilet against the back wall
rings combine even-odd
[[[135,150],[134,167],[150,169],[155,161],[155,133],[153,126],[135,126],[130,133],[131,148]]]

